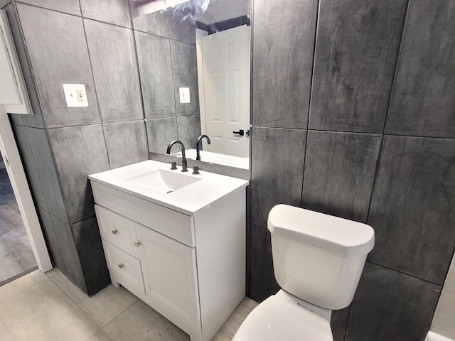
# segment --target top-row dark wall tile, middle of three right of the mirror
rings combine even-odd
[[[321,0],[310,129],[382,132],[406,6]]]

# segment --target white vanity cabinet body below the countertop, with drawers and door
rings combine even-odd
[[[247,182],[185,213],[93,179],[91,185],[112,284],[191,341],[211,340],[245,297]]]

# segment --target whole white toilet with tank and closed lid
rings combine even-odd
[[[252,310],[232,340],[333,341],[331,311],[353,301],[373,228],[289,205],[273,207],[267,227],[282,289]]]

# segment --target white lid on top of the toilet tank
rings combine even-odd
[[[368,254],[375,244],[375,231],[367,224],[289,205],[273,207],[267,227],[277,237],[346,258]]]

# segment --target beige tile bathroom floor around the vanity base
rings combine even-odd
[[[213,338],[228,341],[257,303],[245,298]],[[36,270],[0,287],[0,341],[189,340],[124,288],[85,296],[58,269]]]

